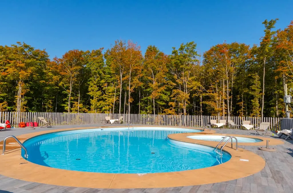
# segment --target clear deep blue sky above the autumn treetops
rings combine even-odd
[[[195,41],[202,54],[224,40],[258,44],[262,22],[279,18],[276,28],[283,29],[292,8],[292,0],[1,0],[0,45],[25,42],[53,58],[70,49],[108,49],[117,39],[166,54]]]

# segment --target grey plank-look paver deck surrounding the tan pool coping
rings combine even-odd
[[[55,126],[52,128],[40,128],[35,130],[28,129],[12,129],[9,131],[0,131],[0,141],[7,135],[21,135],[49,129],[64,129],[74,127],[98,127],[110,126],[109,124],[96,124],[96,125],[74,125],[74,126]],[[112,125],[114,126],[114,125]],[[120,125],[119,125],[120,126]],[[252,135],[253,131],[239,130],[239,129],[214,129],[217,133],[222,134],[242,134]],[[270,132],[269,132],[270,133]],[[272,134],[272,133],[270,133]],[[268,136],[269,138],[272,136]],[[28,193],[28,192],[47,192],[47,193],[93,193],[93,192],[113,192],[113,193],[293,193],[293,140],[285,141],[285,144],[278,146],[270,146],[277,149],[277,152],[267,152],[258,150],[257,146],[240,146],[249,151],[252,151],[265,159],[266,165],[262,171],[248,176],[231,180],[227,182],[186,186],[186,187],[170,187],[170,188],[146,188],[146,189],[93,189],[93,188],[80,188],[80,187],[64,187],[48,184],[41,184],[36,182],[27,182],[17,180],[0,175],[0,193]],[[1,166],[0,166],[1,167]],[[229,172],[229,171],[227,171]],[[219,176],[220,178],[220,176]],[[69,177],[70,179],[70,177]],[[135,183],[135,182],[134,182]]]

